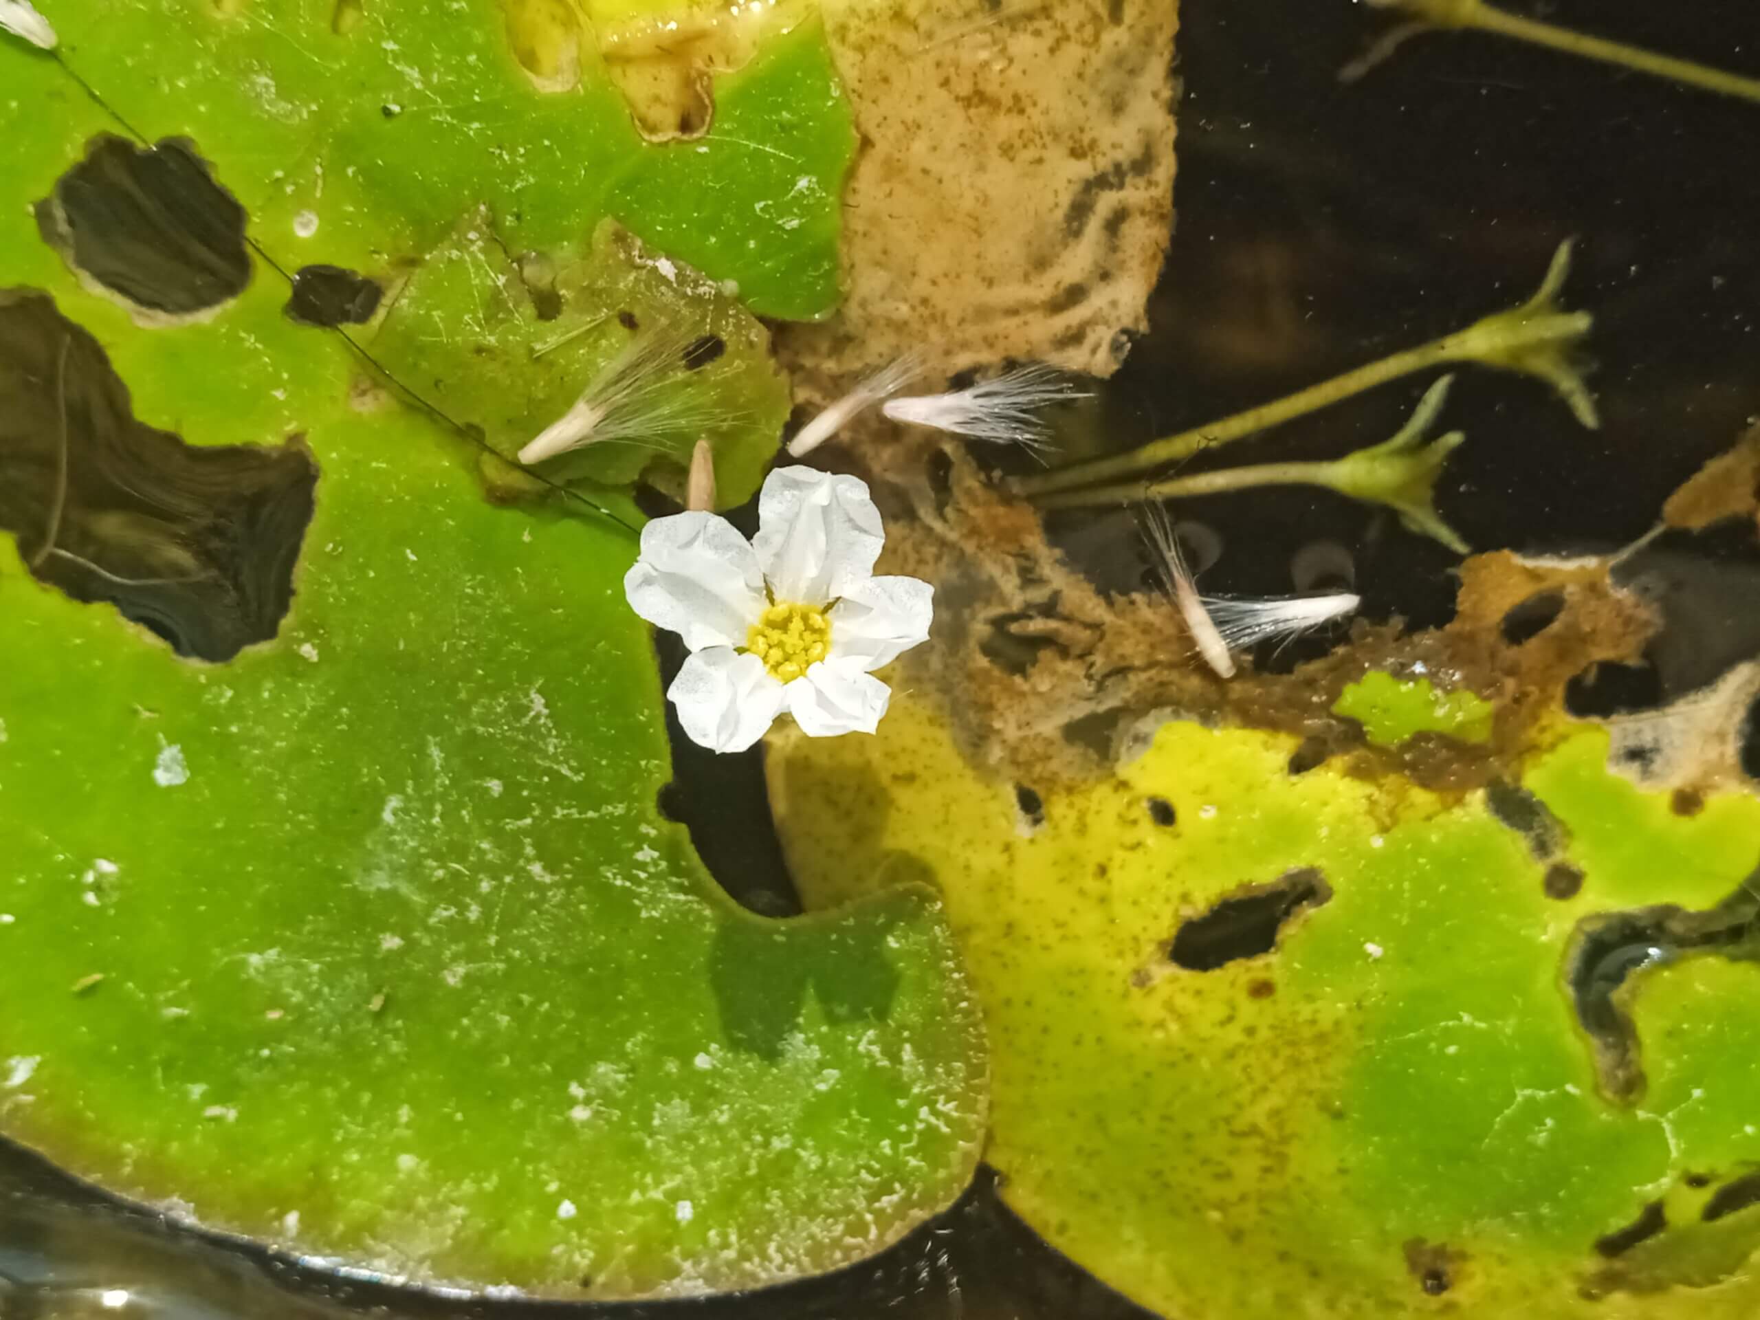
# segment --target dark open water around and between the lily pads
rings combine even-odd
[[[1211,421],[1522,301],[1577,236],[1565,301],[1595,313],[1586,431],[1540,384],[1464,370],[1445,424],[1470,440],[1440,507],[1480,549],[1605,551],[1760,414],[1760,106],[1471,33],[1427,35],[1353,86],[1336,70],[1380,30],[1346,0],[1186,0],[1177,227],[1153,333],[1107,387],[1109,444]],[[1522,12],[1760,76],[1753,0],[1559,0]],[[1426,380],[1234,445],[1228,463],[1332,458],[1392,435]],[[1199,470],[1199,465],[1193,465]],[[1390,517],[1308,489],[1181,509],[1220,539],[1206,590],[1355,581],[1371,618],[1448,618],[1454,556]],[[1135,532],[1063,514],[1096,581],[1135,590]],[[1751,535],[1674,537],[1633,570],[1670,634],[1651,704],[1760,646]],[[1306,554],[1304,554],[1306,551]],[[1306,567],[1302,567],[1306,565]],[[1343,565],[1343,567],[1341,567]],[[1734,630],[1734,632],[1732,632]],[[1741,634],[1741,641],[1730,641]],[[1705,642],[1704,637],[1712,637]],[[1723,641],[1716,641],[1723,639]],[[1721,648],[1721,649],[1720,649]],[[1716,674],[1711,672],[1709,678]],[[1630,704],[1630,702],[1628,702]],[[1760,760],[1760,752],[1756,752]],[[753,759],[685,759],[676,801],[711,866],[759,910],[790,910]],[[741,806],[744,803],[744,806]],[[762,811],[759,811],[762,818]],[[106,1290],[127,1290],[106,1299]],[[752,1297],[648,1306],[451,1302],[345,1283],[120,1211],[23,1155],[0,1158],[0,1316],[651,1316],[653,1320],[1123,1320],[1142,1313],[1016,1221],[989,1174],[935,1223],[845,1274]],[[1214,1320],[1227,1320],[1216,1316]]]

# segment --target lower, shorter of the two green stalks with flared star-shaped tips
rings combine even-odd
[[[1044,495],[1035,503],[1040,509],[1082,509],[1133,500],[1227,495],[1258,486],[1320,486],[1352,500],[1385,505],[1399,514],[1399,521],[1412,532],[1440,540],[1457,554],[1466,554],[1466,542],[1436,512],[1436,479],[1466,435],[1450,431],[1436,440],[1426,438],[1426,431],[1448,398],[1452,380],[1454,377],[1443,377],[1431,385],[1396,436],[1345,458],[1325,463],[1253,463],[1243,468],[1199,472],[1163,480],[1119,482]]]

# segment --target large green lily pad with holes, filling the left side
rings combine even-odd
[[[65,4],[65,67],[0,42],[0,1132],[394,1280],[630,1297],[859,1260],[979,1158],[945,920],[920,887],[737,908],[660,810],[623,591],[651,454],[560,473],[612,521],[503,507],[510,466],[484,498],[465,444],[517,452],[616,352],[595,317],[655,315],[723,340],[678,375],[752,414],[699,500],[755,488],[787,403],[748,306],[836,297],[824,39],[774,37],[708,139],[648,146],[593,69],[537,86],[496,5],[343,12]],[[97,241],[114,215],[132,252]],[[605,216],[644,245],[593,246]],[[292,315],[338,280],[329,329]]]

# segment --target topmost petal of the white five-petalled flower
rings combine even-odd
[[[868,482],[817,468],[776,468],[759,495],[752,547],[778,600],[824,605],[875,570],[885,533]]]

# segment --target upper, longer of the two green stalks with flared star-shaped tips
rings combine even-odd
[[[1588,312],[1565,312],[1558,301],[1565,276],[1570,273],[1570,239],[1558,245],[1545,280],[1540,282],[1535,296],[1521,306],[1484,317],[1454,334],[1390,354],[1272,403],[1262,403],[1232,417],[1151,440],[1130,452],[1077,463],[1037,477],[1023,477],[1019,488],[1038,498],[1155,472],[1214,445],[1243,440],[1366,389],[1385,385],[1389,380],[1448,363],[1477,363],[1500,371],[1536,377],[1565,400],[1579,422],[1593,429],[1600,424],[1595,396],[1589,394],[1589,387],[1582,380],[1582,368],[1575,361],[1575,354],[1595,319]]]

